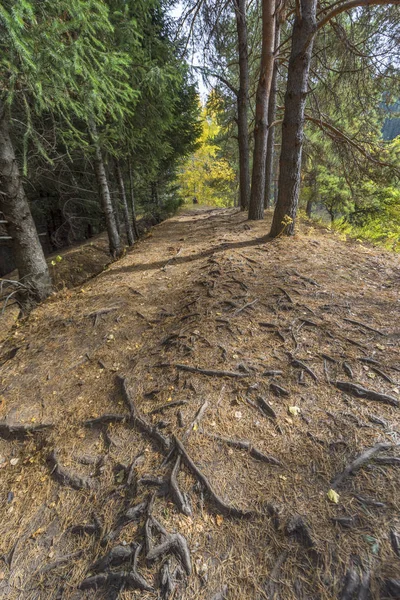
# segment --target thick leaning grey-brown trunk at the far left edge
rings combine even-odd
[[[0,101],[0,210],[13,240],[21,288],[21,306],[29,310],[51,293],[51,280],[36,226],[22,185],[10,137],[8,109]],[[22,287],[23,286],[23,287]]]

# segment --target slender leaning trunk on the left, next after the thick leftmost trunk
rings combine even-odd
[[[115,215],[113,205],[111,202],[110,188],[108,186],[106,170],[104,168],[103,162],[103,155],[101,152],[99,139],[97,135],[97,128],[94,121],[90,122],[89,127],[95,149],[94,168],[96,172],[97,185],[99,186],[101,206],[106,219],[110,254],[111,256],[116,258],[121,254],[121,239],[119,237],[117,224],[115,222]]]

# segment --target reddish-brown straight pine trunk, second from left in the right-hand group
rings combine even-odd
[[[268,100],[274,70],[275,0],[262,0],[262,24],[261,67],[256,94],[253,172],[249,207],[249,219],[254,221],[264,218]]]

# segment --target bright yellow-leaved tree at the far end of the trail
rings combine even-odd
[[[237,197],[237,179],[225,158],[221,158],[217,137],[220,126],[215,113],[202,111],[203,132],[199,148],[186,159],[178,170],[178,184],[185,203],[207,206],[234,206]]]

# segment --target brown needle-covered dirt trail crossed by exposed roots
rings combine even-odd
[[[9,336],[1,598],[400,597],[399,258],[267,229],[183,212]]]

